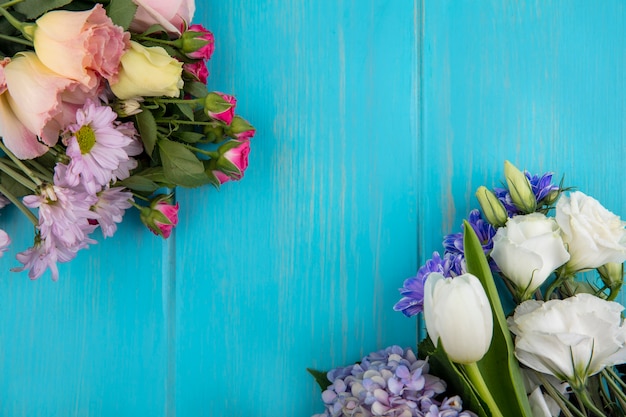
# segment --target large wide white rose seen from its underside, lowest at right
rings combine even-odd
[[[515,356],[524,365],[582,388],[587,377],[626,362],[622,305],[591,294],[529,300],[508,320]]]

